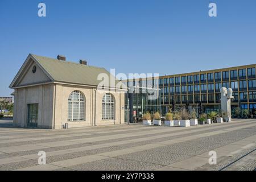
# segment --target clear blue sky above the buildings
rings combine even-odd
[[[10,96],[28,53],[160,75],[256,63],[255,8],[255,0],[1,0],[0,96]]]

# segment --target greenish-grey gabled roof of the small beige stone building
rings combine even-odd
[[[26,62],[32,59],[37,63],[40,68],[46,73],[46,75],[55,82],[65,82],[71,84],[81,84],[81,85],[92,85],[98,86],[102,80],[98,80],[98,75],[105,73],[109,77],[115,80],[115,84],[118,80],[115,79],[105,68],[92,67],[89,65],[82,65],[79,63],[73,63],[68,61],[60,61],[58,59],[52,59],[49,57],[38,56],[38,55],[28,55],[27,60],[20,68],[20,71],[15,76],[10,87],[14,86],[15,81],[18,79],[19,75],[22,73],[23,67],[26,66]]]

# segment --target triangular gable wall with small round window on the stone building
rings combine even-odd
[[[35,73],[32,69],[36,67]],[[19,72],[11,82],[10,88],[51,82],[53,78],[42,68],[38,61],[30,54],[23,63]]]

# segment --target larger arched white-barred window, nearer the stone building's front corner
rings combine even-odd
[[[68,97],[68,121],[85,121],[85,98],[79,91]]]

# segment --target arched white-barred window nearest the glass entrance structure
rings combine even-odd
[[[105,94],[102,99],[102,119],[110,120],[115,118],[115,101],[114,96],[110,93]]]

